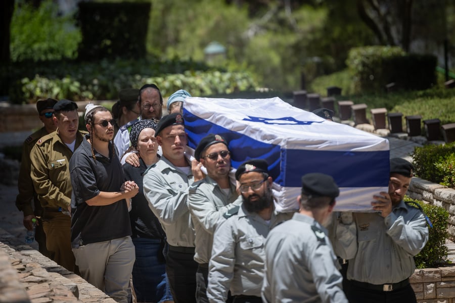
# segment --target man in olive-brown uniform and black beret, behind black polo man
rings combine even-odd
[[[43,207],[43,229],[46,246],[53,260],[75,271],[70,242],[71,181],[69,160],[82,142],[77,130],[79,117],[76,103],[60,100],[55,106],[57,131],[42,137],[31,150],[31,178]]]

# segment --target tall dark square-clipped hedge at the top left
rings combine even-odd
[[[150,2],[79,2],[78,6],[79,59],[145,57]]]

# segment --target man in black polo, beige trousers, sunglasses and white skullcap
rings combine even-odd
[[[109,110],[87,105],[85,123],[89,134],[70,161],[73,252],[85,280],[127,303],[135,259],[128,208],[139,187],[124,182],[111,142],[115,121]]]

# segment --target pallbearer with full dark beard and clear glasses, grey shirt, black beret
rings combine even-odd
[[[228,218],[213,235],[207,296],[210,302],[224,302],[228,291],[234,302],[262,302],[265,238],[270,229],[290,219],[278,214],[267,162],[252,159],[236,171],[242,206],[226,212]]]

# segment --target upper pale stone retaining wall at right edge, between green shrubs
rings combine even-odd
[[[449,213],[447,227],[449,239],[455,240],[455,189],[414,177],[407,195],[444,208]]]

